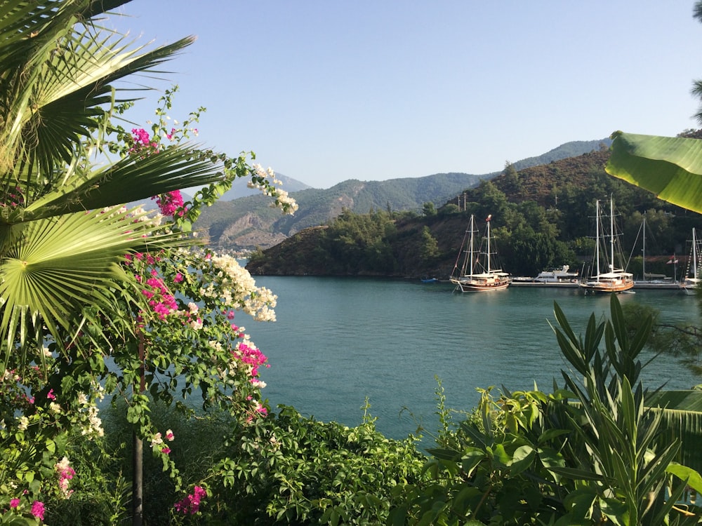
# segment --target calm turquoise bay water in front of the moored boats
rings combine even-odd
[[[461,295],[448,283],[370,278],[258,276],[256,283],[278,295],[275,323],[246,323],[271,364],[261,374],[270,403],[354,426],[368,397],[378,430],[391,438],[418,424],[437,429],[435,376],[446,405],[461,410],[475,407],[477,387],[533,389],[536,382],[550,391],[567,368],[548,324],[555,325],[553,302],[576,334],[591,313],[609,313],[609,297],[576,289]],[[677,291],[619,298],[656,307],[661,321],[699,323],[696,299]],[[670,357],[657,358],[644,378],[649,387],[668,382],[670,389],[702,383]]]

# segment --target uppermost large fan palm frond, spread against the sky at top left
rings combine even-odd
[[[113,1],[110,6],[120,3]],[[60,19],[68,27],[52,22],[51,28],[56,29],[50,32],[52,38],[46,46],[20,39],[25,48],[16,53],[20,57],[16,60],[23,62],[13,63],[11,69],[0,66],[0,81],[4,83],[0,88],[5,88],[0,93],[8,95],[6,101],[0,101],[0,122],[4,125],[0,128],[0,169],[6,172],[0,184],[8,184],[9,177],[15,182],[17,173],[10,168],[18,164],[25,176],[33,174],[44,182],[48,178],[51,183],[55,169],[69,162],[81,137],[98,128],[98,116],[112,101],[110,83],[135,72],[158,72],[155,68],[193,41],[185,38],[145,50],[146,46],[133,46],[114,31],[97,31],[90,25],[80,29],[88,22],[85,13],[102,12],[96,8],[97,2],[65,0],[55,4],[54,11],[41,14]],[[62,13],[68,14],[60,18]],[[21,14],[24,18],[18,15],[19,22],[27,24],[36,15],[32,11]],[[0,37],[4,32],[12,37],[13,29],[20,31],[18,22],[6,27],[0,24]],[[42,38],[49,34],[44,29]],[[25,183],[27,190],[31,182],[30,177]]]

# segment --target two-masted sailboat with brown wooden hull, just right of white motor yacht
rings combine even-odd
[[[616,232],[614,230],[614,199],[609,200],[609,234],[602,225],[603,213],[600,201],[595,201],[596,210],[596,241],[595,258],[593,261],[593,274],[590,278],[580,283],[581,288],[588,293],[597,292],[624,292],[634,286],[634,275],[614,266],[615,252],[618,259],[623,261],[621,250],[616,249]],[[604,216],[607,217],[607,216]],[[609,249],[607,248],[609,240]],[[602,271],[602,267],[606,271]]]

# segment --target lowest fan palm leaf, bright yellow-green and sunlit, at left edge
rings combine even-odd
[[[0,337],[6,349],[25,346],[37,320],[61,346],[62,335],[81,326],[84,306],[114,307],[113,289],[127,278],[119,262],[128,252],[190,243],[175,235],[151,238],[156,228],[127,210],[27,223],[20,242],[0,259]]]

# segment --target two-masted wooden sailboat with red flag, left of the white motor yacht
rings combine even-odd
[[[451,283],[456,285],[456,290],[461,292],[484,292],[486,290],[504,290],[510,285],[510,275],[503,272],[501,269],[493,269],[491,267],[491,256],[496,252],[491,252],[491,235],[490,235],[490,220],[492,215],[486,219],[485,236],[482,241],[486,243],[486,250],[482,251],[483,243],[480,243],[479,248],[475,248],[475,216],[470,216],[468,229],[463,236],[461,243],[461,252],[458,253],[456,265],[453,267],[453,273],[458,271],[458,261],[461,259],[461,253],[465,253],[463,265],[456,276],[451,273]],[[468,238],[468,243],[466,239]]]

